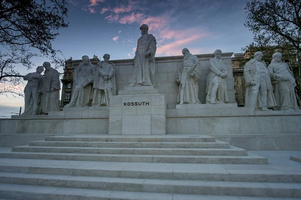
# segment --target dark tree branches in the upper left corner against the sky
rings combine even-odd
[[[35,56],[49,56],[55,65],[64,65],[60,50],[52,47],[67,27],[66,0],[0,0],[0,94],[17,93],[22,82],[17,65],[32,68]]]

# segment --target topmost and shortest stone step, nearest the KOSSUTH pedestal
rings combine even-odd
[[[215,138],[207,135],[161,135],[161,136],[139,136],[139,135],[63,135],[46,137],[46,141],[121,141],[121,142],[215,142]]]

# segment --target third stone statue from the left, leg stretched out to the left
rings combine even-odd
[[[93,98],[93,75],[95,66],[90,62],[88,55],[82,56],[83,62],[80,63],[73,73],[73,93],[70,102],[65,107],[89,106]]]

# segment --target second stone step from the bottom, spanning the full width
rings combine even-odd
[[[0,183],[115,191],[301,198],[301,183],[163,180],[0,172]]]

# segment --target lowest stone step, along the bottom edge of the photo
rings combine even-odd
[[[80,188],[49,187],[20,184],[0,184],[0,197],[15,200],[300,200],[301,198],[274,198],[222,195],[172,194],[158,192],[114,191]]]

